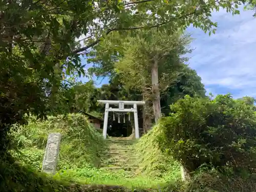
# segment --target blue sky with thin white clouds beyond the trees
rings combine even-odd
[[[188,64],[202,78],[207,93],[256,97],[256,18],[252,14],[243,9],[240,15],[223,10],[212,13],[218,28],[211,36],[200,29],[187,29],[194,38],[190,47],[195,49],[188,55]],[[108,83],[108,79],[101,80],[98,86]]]

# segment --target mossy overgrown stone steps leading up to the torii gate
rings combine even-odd
[[[124,170],[125,172],[135,173],[138,168],[136,165],[136,153],[133,140],[129,137],[112,137],[106,140],[108,145],[101,160],[101,168],[110,171]]]

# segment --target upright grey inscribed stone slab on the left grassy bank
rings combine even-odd
[[[59,154],[61,134],[50,133],[48,135],[44,160],[42,161],[42,172],[55,174],[57,158]]]

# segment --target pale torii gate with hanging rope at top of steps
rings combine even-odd
[[[105,115],[104,115],[103,133],[102,133],[104,139],[106,138],[106,131],[108,129],[109,111],[112,111],[112,112],[133,112],[134,113],[134,123],[135,123],[135,138],[138,139],[140,137],[137,105],[144,105],[145,101],[98,100],[98,102],[105,104]],[[119,104],[119,108],[110,108],[110,104]],[[124,105],[133,105],[133,108],[125,109]]]

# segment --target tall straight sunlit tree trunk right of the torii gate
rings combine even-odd
[[[160,105],[160,91],[158,83],[158,56],[156,55],[153,60],[151,68],[151,79],[152,79],[152,93],[153,93],[153,109],[155,116],[155,123],[158,123],[161,117],[161,105]]]

